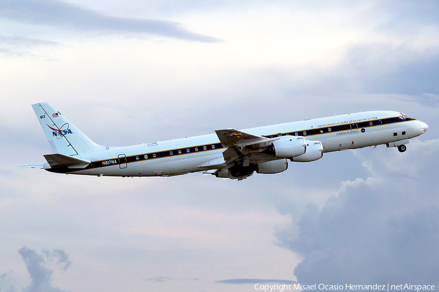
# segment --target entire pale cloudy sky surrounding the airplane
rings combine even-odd
[[[439,287],[438,14],[433,0],[0,0],[0,292]],[[66,176],[17,167],[51,151],[38,102],[108,146],[365,110],[429,130],[404,153],[240,182]]]

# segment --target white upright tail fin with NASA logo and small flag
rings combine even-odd
[[[46,102],[32,105],[53,153],[77,155],[103,150]]]

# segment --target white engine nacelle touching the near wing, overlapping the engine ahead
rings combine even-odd
[[[291,158],[304,154],[306,141],[303,137],[281,136],[263,151],[278,158]]]

